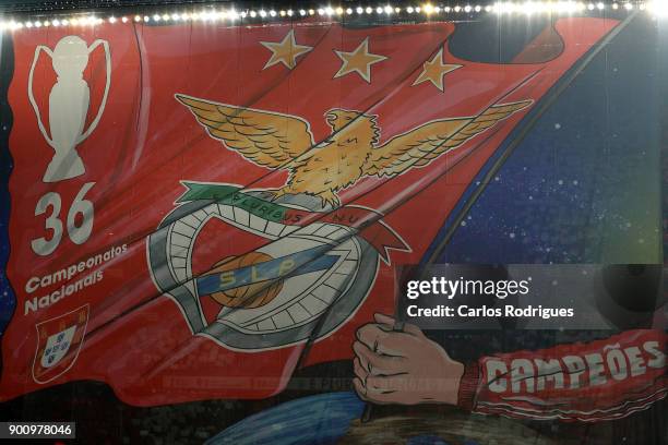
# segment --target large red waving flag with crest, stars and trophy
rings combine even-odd
[[[557,19],[503,63],[455,56],[451,22],[14,35],[2,398],[263,398],[350,359],[393,264],[617,25]]]

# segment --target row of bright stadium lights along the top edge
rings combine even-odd
[[[379,5],[379,7],[320,7],[310,9],[248,9],[237,11],[236,9],[214,9],[205,8],[200,11],[175,11],[166,13],[164,11],[155,13],[112,15],[108,14],[104,17],[95,13],[72,14],[70,16],[53,14],[50,17],[34,17],[27,20],[1,20],[0,31],[15,32],[19,29],[40,28],[48,26],[95,26],[104,23],[159,23],[159,22],[229,22],[260,19],[261,21],[285,20],[293,17],[326,17],[335,19],[345,15],[393,15],[393,14],[421,14],[424,16],[444,20],[456,14],[472,13],[496,13],[496,14],[537,14],[537,13],[557,13],[569,14],[585,11],[647,11],[656,15],[668,15],[668,0],[655,0],[648,2],[581,2],[581,1],[527,1],[527,2],[497,2],[493,4],[465,4],[454,7],[432,5],[422,3],[419,5]]]

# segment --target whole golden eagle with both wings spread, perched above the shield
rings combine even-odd
[[[533,100],[492,105],[478,116],[427,122],[379,145],[378,117],[334,108],[325,113],[332,128],[315,144],[309,122],[273,111],[217,104],[177,94],[208,134],[247,159],[272,169],[286,169],[289,178],[275,192],[319,196],[323,206],[341,205],[337,191],[368,176],[394,177],[414,167],[425,167],[437,157]]]

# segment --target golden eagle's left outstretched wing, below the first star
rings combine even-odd
[[[313,146],[301,118],[177,94],[212,137],[261,166],[278,168]]]

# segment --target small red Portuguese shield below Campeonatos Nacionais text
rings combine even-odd
[[[79,356],[86,334],[88,305],[37,324],[37,352],[33,378],[47,383],[69,370]]]

